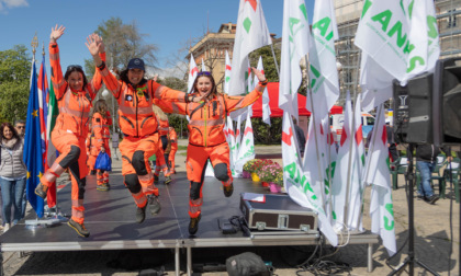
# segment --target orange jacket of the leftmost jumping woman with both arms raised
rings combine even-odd
[[[101,59],[105,60],[105,53],[101,55]],[[79,137],[87,138],[91,102],[102,87],[101,74],[97,70],[91,82],[87,83],[82,91],[75,92],[70,90],[69,84],[63,77],[59,48],[56,43],[49,44],[49,64],[52,66],[53,88],[59,107],[55,129],[71,131]]]

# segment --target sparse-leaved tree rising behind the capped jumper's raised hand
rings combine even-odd
[[[108,66],[122,69],[130,59],[138,57],[145,61],[146,66],[157,68],[158,47],[155,44],[144,43],[143,38],[148,34],[139,33],[136,22],[124,24],[120,18],[111,18],[103,21],[95,33],[104,42]],[[85,66],[87,72],[94,72],[92,60],[85,60]]]

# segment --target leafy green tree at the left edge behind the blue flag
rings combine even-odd
[[[0,119],[25,119],[30,93],[31,58],[24,45],[0,51]]]

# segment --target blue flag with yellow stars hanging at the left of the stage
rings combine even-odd
[[[43,217],[44,200],[35,195],[34,189],[40,183],[43,170],[42,139],[40,128],[40,105],[35,60],[32,61],[31,92],[29,94],[27,117],[25,122],[24,162],[27,166],[26,194],[27,200],[38,218]]]

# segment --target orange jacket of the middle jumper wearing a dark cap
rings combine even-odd
[[[119,125],[125,136],[145,137],[158,131],[158,123],[151,108],[154,99],[184,102],[185,93],[148,80],[133,88],[119,81],[104,66],[101,72],[105,87],[119,102]]]

